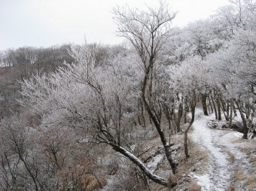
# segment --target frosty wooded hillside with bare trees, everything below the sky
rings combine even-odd
[[[0,190],[256,188],[256,2],[183,28],[169,7],[113,8],[123,44],[0,53]],[[218,185],[207,166],[221,141],[197,136],[227,131],[250,148],[224,140]]]

